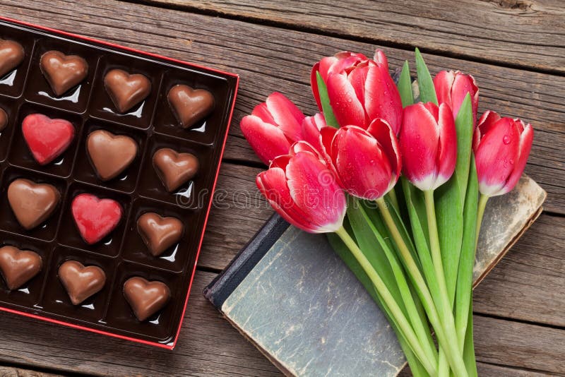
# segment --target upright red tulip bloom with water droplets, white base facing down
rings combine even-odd
[[[412,104],[404,109],[400,130],[403,173],[422,191],[446,183],[455,170],[457,136],[448,104]]]

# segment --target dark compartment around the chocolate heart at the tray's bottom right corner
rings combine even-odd
[[[171,292],[171,298],[165,307],[148,318],[146,321],[138,321],[133,314],[131,306],[124,297],[124,283],[130,277],[143,277],[149,282],[157,280],[165,283]],[[151,268],[138,263],[122,262],[119,264],[114,281],[112,298],[109,301],[109,309],[105,322],[119,330],[134,335],[145,335],[151,340],[167,344],[172,341],[173,329],[182,316],[186,289],[181,288],[181,274],[170,273],[160,268]]]

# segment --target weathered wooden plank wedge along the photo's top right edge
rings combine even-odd
[[[559,0],[146,2],[565,73],[565,8]]]

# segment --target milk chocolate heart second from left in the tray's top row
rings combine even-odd
[[[75,87],[88,75],[88,63],[78,55],[48,51],[41,56],[40,68],[57,96]]]

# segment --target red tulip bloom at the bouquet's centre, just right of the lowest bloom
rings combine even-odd
[[[398,140],[382,119],[375,119],[367,131],[357,126],[340,128],[328,150],[340,184],[352,196],[374,201],[398,181]]]

